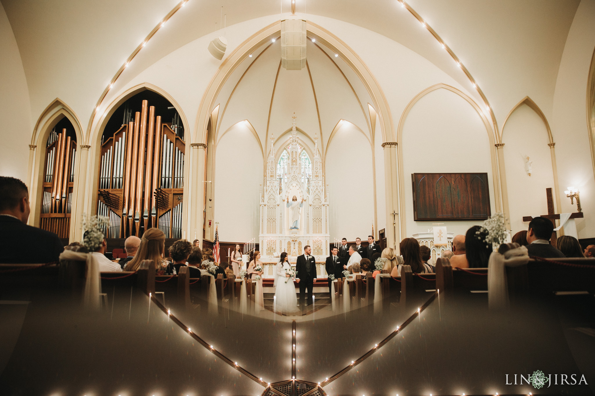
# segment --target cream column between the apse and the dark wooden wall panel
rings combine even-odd
[[[386,246],[397,249],[399,236],[399,191],[397,186],[397,142],[384,142],[384,185],[386,193]]]

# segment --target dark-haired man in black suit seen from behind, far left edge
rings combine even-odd
[[[30,211],[25,183],[0,176],[0,263],[42,264],[64,251],[58,235],[27,226]]]

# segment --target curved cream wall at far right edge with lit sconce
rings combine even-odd
[[[593,158],[587,126],[587,79],[595,48],[595,2],[581,1],[560,61],[556,90],[553,96],[553,117],[550,121],[556,142],[556,162],[562,197],[562,213],[577,211],[570,204],[564,190],[574,186],[580,190],[581,206],[585,218],[577,218],[578,236],[595,235],[595,179]]]

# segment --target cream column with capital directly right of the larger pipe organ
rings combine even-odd
[[[206,144],[204,143],[190,143],[192,147],[192,172],[196,175],[192,178],[191,196],[189,197],[190,204],[190,227],[187,230],[188,239],[200,240],[202,248],[202,227],[205,223],[205,166],[206,166]]]

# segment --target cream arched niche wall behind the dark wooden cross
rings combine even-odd
[[[517,107],[502,131],[505,144],[506,186],[512,233],[527,229],[523,216],[547,214],[546,188],[554,189],[552,156],[547,129],[527,104]],[[531,176],[525,171],[527,156],[533,161]],[[555,195],[555,194],[554,194]],[[554,201],[556,201],[554,197]]]

